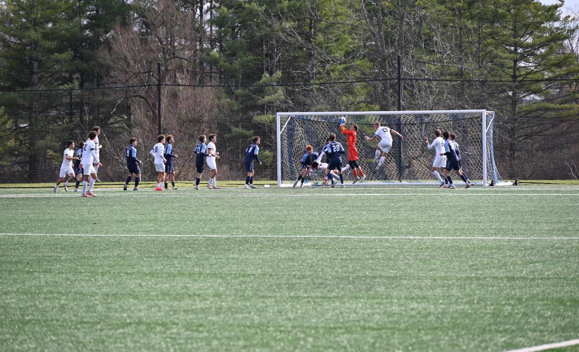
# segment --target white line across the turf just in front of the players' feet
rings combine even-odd
[[[200,192],[190,192],[188,194],[180,193],[175,194],[171,192],[167,193],[116,193],[116,194],[101,194],[100,191],[95,191],[97,197],[171,197],[171,198],[179,198],[179,197],[199,197],[201,195]],[[445,191],[444,193],[450,195],[458,195],[458,196],[465,196],[465,197],[488,197],[488,196],[507,196],[507,197],[579,197],[579,193],[465,193],[465,192],[455,192],[455,191]],[[443,192],[439,193],[303,193],[303,194],[263,194],[259,193],[251,193],[247,192],[247,194],[229,194],[229,193],[219,193],[217,191],[204,191],[204,197],[433,197],[433,196],[440,196]],[[80,194],[3,194],[0,195],[0,198],[80,198]],[[91,198],[91,197],[89,197]]]

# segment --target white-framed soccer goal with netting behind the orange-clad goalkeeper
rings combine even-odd
[[[494,112],[487,110],[427,110],[382,112],[294,112],[277,113],[277,184],[291,185],[301,171],[301,158],[307,144],[318,153],[326,144],[329,134],[347,150],[346,136],[340,133],[338,119],[346,118],[346,128],[358,125],[358,164],[366,180],[361,186],[378,184],[438,185],[431,173],[435,157],[428,142],[433,141],[435,129],[456,134],[462,157],[462,167],[468,177],[482,186],[505,185],[499,175],[493,155]],[[374,123],[379,122],[404,136],[393,135],[392,148],[381,168],[376,170],[375,151],[378,140],[369,142],[364,136],[374,135]],[[347,165],[347,154],[343,154]],[[454,175],[453,180],[460,180]],[[353,180],[346,174],[346,180]],[[317,180],[310,180],[317,181]],[[317,182],[312,182],[317,183]],[[456,184],[463,184],[456,182]]]

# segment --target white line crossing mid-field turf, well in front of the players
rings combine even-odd
[[[579,237],[515,237],[515,236],[349,236],[349,235],[154,235],[154,234],[0,234],[0,236],[62,237],[190,237],[190,238],[301,238],[301,239],[383,239],[383,240],[579,240]]]

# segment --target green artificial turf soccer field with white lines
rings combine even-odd
[[[0,350],[579,338],[578,186],[95,192],[0,190]]]

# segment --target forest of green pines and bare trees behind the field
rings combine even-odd
[[[194,177],[200,134],[218,134],[222,179],[243,176],[243,151],[262,136],[258,175],[274,179],[276,112],[399,108],[493,110],[503,177],[577,179],[578,23],[562,6],[2,0],[0,182],[54,180],[65,141],[93,125],[100,178],[123,179],[130,136],[142,158],[156,143],[159,92],[180,179]]]

